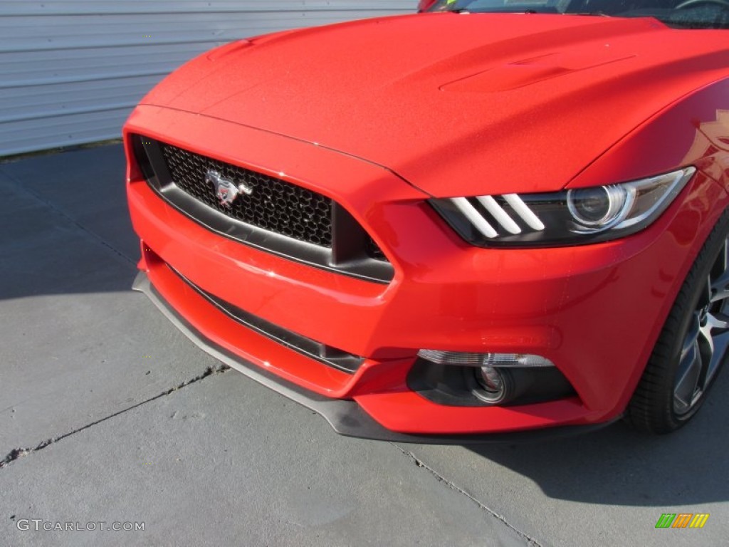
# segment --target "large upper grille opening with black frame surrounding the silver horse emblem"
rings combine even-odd
[[[331,198],[162,141],[132,142],[149,187],[209,230],[340,274],[385,283],[394,276],[378,244]],[[232,202],[221,203],[216,179],[241,189]]]

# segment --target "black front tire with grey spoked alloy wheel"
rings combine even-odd
[[[729,348],[729,209],[703,244],[628,403],[636,430],[668,433],[701,408]]]

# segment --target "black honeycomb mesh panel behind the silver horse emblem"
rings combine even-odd
[[[320,247],[332,247],[332,201],[324,195],[267,176],[160,143],[175,184],[219,212],[263,230],[289,236]],[[208,170],[217,171],[236,186],[253,191],[232,205],[222,205],[214,184],[206,182]]]

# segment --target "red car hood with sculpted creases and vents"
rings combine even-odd
[[[355,155],[432,195],[535,192],[728,66],[728,31],[433,13],[235,42],[143,102]]]

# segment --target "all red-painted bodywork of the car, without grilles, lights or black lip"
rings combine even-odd
[[[152,249],[141,267],[208,338],[314,392],[353,397],[393,430],[612,418],[728,203],[728,48],[729,31],[526,14],[413,15],[230,44],[149,93],[125,135],[284,172],[329,195],[375,238],[394,280],[351,279],[208,232],[160,201],[129,158],[134,228]],[[584,247],[469,247],[424,201],[621,182],[686,165],[699,173],[650,228]],[[163,262],[246,311],[367,361],[347,376],[246,332]],[[439,406],[405,386],[420,348],[541,354],[577,397]]]

